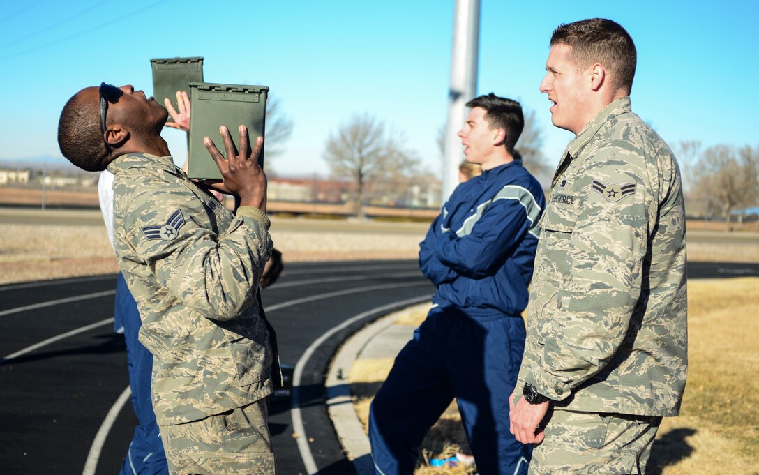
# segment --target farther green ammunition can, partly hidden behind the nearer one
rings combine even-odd
[[[156,58],[153,67],[153,98],[160,105],[168,97],[174,110],[179,112],[177,91],[190,93],[190,83],[203,82],[203,58]],[[171,115],[168,121],[172,121]]]

